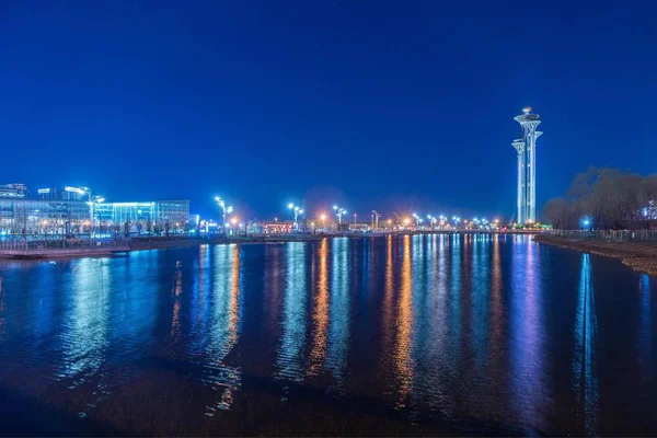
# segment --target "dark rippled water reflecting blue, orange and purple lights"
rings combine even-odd
[[[655,435],[656,285],[527,237],[0,265],[3,435]]]

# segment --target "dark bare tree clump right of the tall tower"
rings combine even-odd
[[[595,229],[649,228],[657,219],[657,174],[589,168],[575,175],[566,195],[548,200],[543,219],[556,229],[579,229],[584,220]]]

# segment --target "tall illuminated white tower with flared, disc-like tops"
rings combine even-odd
[[[522,138],[514,140],[511,146],[518,152],[518,223],[537,221],[537,130],[541,120],[532,114],[531,107],[522,108],[522,115],[514,117],[522,127]]]

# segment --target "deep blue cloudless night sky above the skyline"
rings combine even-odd
[[[649,2],[102,3],[1,7],[0,183],[509,218],[527,105],[539,208],[589,164],[657,171]]]

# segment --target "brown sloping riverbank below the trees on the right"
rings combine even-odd
[[[591,254],[621,258],[624,265],[627,265],[635,270],[657,276],[657,245],[650,245],[646,243],[578,240],[554,237],[550,234],[537,234],[534,235],[534,241],[549,245],[584,251]]]

